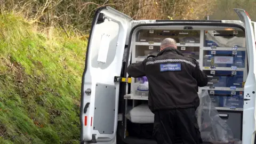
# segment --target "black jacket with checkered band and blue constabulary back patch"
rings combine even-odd
[[[155,57],[132,63],[127,68],[131,77],[147,76],[148,105],[151,111],[199,106],[198,86],[206,86],[207,76],[198,62],[179,50],[167,47]]]

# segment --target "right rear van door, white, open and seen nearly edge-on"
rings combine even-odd
[[[254,143],[256,125],[255,91],[256,91],[256,50],[253,27],[249,14],[241,9],[234,9],[241,21],[244,22],[246,47],[249,63],[249,73],[244,86],[244,108],[243,108],[243,144]]]

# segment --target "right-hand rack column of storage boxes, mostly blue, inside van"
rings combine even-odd
[[[231,120],[241,117],[244,83],[247,77],[245,34],[236,30],[204,30],[201,67],[209,78],[207,90],[211,102],[230,126],[234,137],[241,139],[242,124]]]

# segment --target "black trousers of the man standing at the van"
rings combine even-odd
[[[202,143],[195,108],[155,111],[153,137],[158,144],[174,144],[180,136],[184,144]]]

